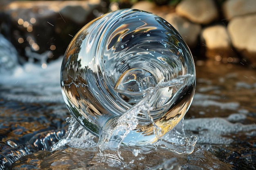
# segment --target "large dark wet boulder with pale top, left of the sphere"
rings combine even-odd
[[[77,31],[101,14],[101,7],[100,0],[14,1],[5,7],[2,32],[23,57],[20,62],[50,61],[65,53]]]

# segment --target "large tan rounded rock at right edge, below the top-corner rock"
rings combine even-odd
[[[245,15],[233,18],[228,32],[233,46],[256,65],[256,15]]]

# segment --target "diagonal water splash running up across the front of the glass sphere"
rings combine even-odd
[[[117,116],[113,119],[109,119],[103,126],[100,132],[101,136],[99,138],[99,149],[102,152],[105,149],[119,149],[121,144],[138,145],[136,144],[136,137],[131,131],[135,130],[139,124],[137,119],[138,114],[144,114],[147,119],[150,120],[153,132],[156,137],[156,141],[160,140],[163,136],[162,127],[155,124],[153,117],[150,115],[150,102],[154,99],[155,95],[158,95],[158,91],[162,88],[173,87],[183,84],[184,79],[191,77],[193,75],[181,76],[179,78],[173,79],[169,82],[160,81],[155,87],[148,88],[148,93],[143,99],[141,99],[137,104],[133,105],[128,111],[123,115]],[[194,140],[196,142],[196,140]],[[195,145],[193,143],[193,146]],[[148,144],[148,141],[144,142]],[[187,147],[186,147],[187,148]],[[192,150],[193,152],[193,150]],[[119,155],[120,157],[120,155]]]

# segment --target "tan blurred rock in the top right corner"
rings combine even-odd
[[[235,16],[256,13],[256,0],[227,0],[222,8],[225,18],[230,20]]]

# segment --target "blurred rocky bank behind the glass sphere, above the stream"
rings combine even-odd
[[[149,11],[167,20],[180,32],[195,60],[210,58],[250,67],[256,64],[255,0],[0,0],[0,3],[0,33],[17,50],[20,64],[31,60],[45,66],[64,54],[72,37],[86,23],[121,8]],[[45,54],[37,55],[42,53]],[[4,65],[3,61],[1,64]]]

